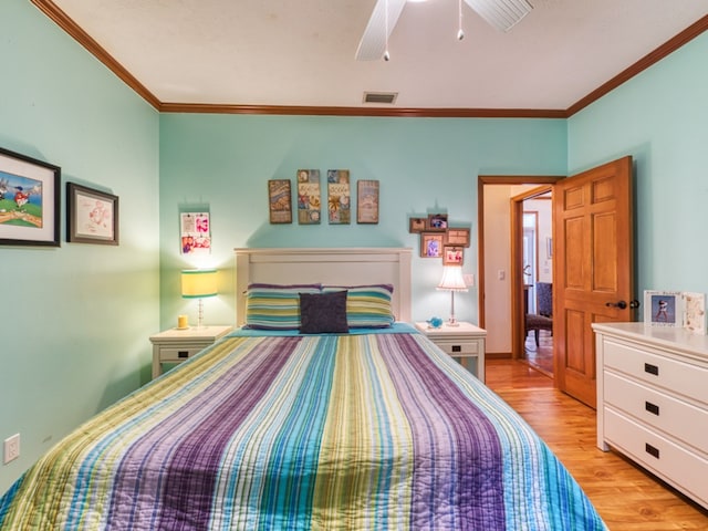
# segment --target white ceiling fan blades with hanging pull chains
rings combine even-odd
[[[357,61],[388,61],[388,37],[407,0],[377,0],[356,50]],[[460,10],[461,10],[461,0]],[[482,19],[500,31],[509,31],[533,7],[527,0],[465,0]],[[462,39],[460,29],[458,39]]]

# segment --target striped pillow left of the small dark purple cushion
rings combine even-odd
[[[300,330],[300,293],[321,292],[321,284],[249,284],[246,326],[252,330]]]

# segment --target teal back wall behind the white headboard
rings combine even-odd
[[[442,119],[165,114],[160,116],[162,324],[179,313],[196,319],[196,303],[179,299],[179,271],[221,271],[218,299],[205,300],[210,324],[235,322],[233,248],[410,247],[408,217],[447,212],[471,227],[464,270],[477,278],[477,176],[564,175],[565,121]],[[378,225],[270,225],[268,179],[291,179],[299,168],[348,169],[381,181]],[[323,199],[326,192],[323,191]],[[179,253],[180,209],[208,208],[214,251]],[[435,289],[440,260],[414,258],[413,317],[449,313],[450,296]],[[477,290],[456,296],[456,315],[477,322]]]

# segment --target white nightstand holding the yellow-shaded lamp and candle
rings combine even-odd
[[[150,335],[153,343],[153,378],[163,374],[163,363],[181,363],[212,345],[231,332],[231,326],[190,326],[187,330],[169,329]]]

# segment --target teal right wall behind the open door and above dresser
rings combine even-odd
[[[569,119],[570,174],[634,157],[637,288],[708,293],[708,33]]]

